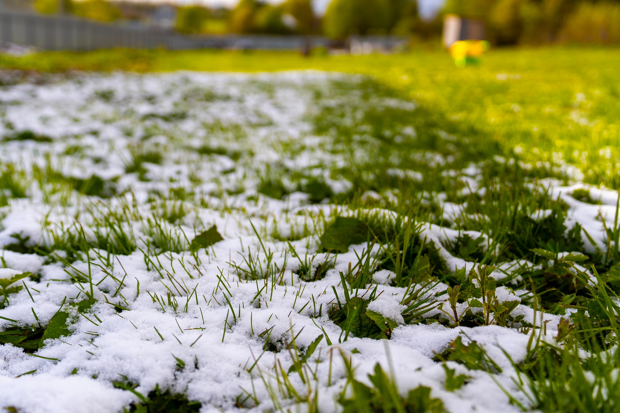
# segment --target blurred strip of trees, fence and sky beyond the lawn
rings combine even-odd
[[[1,41],[50,50],[131,46],[129,40],[119,40],[122,35],[133,35],[138,47],[162,45],[173,49],[252,48],[251,40],[246,45],[243,41],[239,43],[239,36],[243,35],[312,37],[309,46],[348,51],[355,48],[350,43],[352,37],[374,37],[374,49],[391,50],[404,43],[440,45],[446,15],[480,22],[484,27],[482,37],[492,46],[620,42],[620,1],[616,0],[1,0],[0,3]],[[82,24],[79,27],[78,22]],[[95,33],[95,29],[99,32]],[[158,40],[150,43],[144,40],[156,35]],[[136,40],[136,36],[144,38]],[[221,40],[227,36],[236,40]],[[84,43],[84,38],[91,37],[108,40],[107,43],[102,40],[99,45],[92,41]],[[220,43],[188,40],[198,37],[219,37]],[[384,43],[378,40],[390,37],[392,40],[384,39]],[[348,43],[343,43],[347,39]],[[303,40],[291,42],[286,38],[278,41],[265,40],[263,48],[298,48],[305,44]]]

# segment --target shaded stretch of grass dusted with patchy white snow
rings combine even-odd
[[[0,102],[0,407],[616,394],[616,193],[363,77],[92,75]]]

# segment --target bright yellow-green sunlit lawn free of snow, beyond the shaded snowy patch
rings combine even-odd
[[[562,160],[586,170],[585,181],[611,188],[620,186],[619,63],[616,48],[577,47],[491,50],[480,66],[460,69],[447,53],[433,48],[389,56],[309,58],[295,52],[211,50],[45,52],[0,58],[0,67],[49,72],[317,69],[366,74],[422,104],[428,121],[449,121],[468,134],[484,136],[485,152],[496,148],[511,154],[518,146],[519,158],[526,162],[553,165]]]

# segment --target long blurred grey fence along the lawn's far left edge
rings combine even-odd
[[[368,41],[387,50],[402,43],[402,38],[397,37],[373,39]],[[66,15],[45,16],[10,11],[0,11],[0,41],[37,46],[45,50],[74,51],[115,47],[291,50],[329,45],[329,39],[320,36],[188,36],[153,27],[103,24]]]

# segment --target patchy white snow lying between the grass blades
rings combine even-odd
[[[285,370],[293,362],[285,349],[263,354],[265,336],[259,334],[270,331],[272,339],[281,338],[282,342],[290,342],[299,334],[296,345],[306,347],[319,334],[330,337],[332,346],[323,339],[311,357],[311,365],[316,362],[318,403],[324,412],[339,411],[334,398],[342,389],[346,374],[338,349],[346,357],[352,357],[359,380],[368,383],[366,373],[379,362],[386,371],[393,368],[403,394],[418,385],[429,386],[433,397],[441,398],[450,412],[518,411],[508,404],[507,396],[488,373],[469,372],[453,362],[449,363],[451,368],[472,379],[458,391],[446,391],[445,372],[432,358],[461,334],[464,342],[475,340],[487,350],[503,369],[495,375],[496,380],[514,390],[513,372],[505,354],[516,362],[523,359],[529,340],[527,334],[499,326],[405,325],[401,315],[404,305],[400,304],[405,289],[386,285],[396,274],[383,270],[373,275],[378,283],[377,293],[381,295],[368,309],[399,324],[391,340],[350,337],[339,344],[341,329],[327,318],[327,310],[334,303],[332,286],[336,286],[337,293],[343,297],[339,271],[346,272],[349,263],[356,263],[356,254],[366,246],[351,246],[347,253],[334,259],[334,268],[327,271],[324,279],[304,282],[292,271],[299,263],[285,254],[286,242],[257,237],[257,233],[267,235],[274,230],[284,237],[301,234],[304,226],[320,230],[322,224],[317,217],[329,217],[335,212],[329,205],[306,205],[308,195],[304,193],[293,192],[279,201],[259,194],[257,188],[261,178],[270,173],[270,168],[281,165],[292,170],[315,168],[317,173],[321,168],[327,171],[330,166],[343,165],[342,157],[330,152],[327,139],[312,136],[306,114],[316,110],[313,90],[329,88],[331,80],[344,78],[320,72],[277,75],[178,72],[143,76],[115,73],[46,85],[21,84],[0,90],[4,108],[1,135],[10,136],[15,131],[28,129],[52,139],[49,143],[5,142],[6,150],[0,154],[4,162],[12,160],[24,169],[32,165],[49,166],[75,178],[97,175],[107,180],[118,176],[117,191],[125,192],[118,199],[89,199],[78,196],[75,191],[55,189],[53,183],[46,184],[45,191],[32,184],[28,189],[29,198],[11,199],[9,206],[2,209],[0,245],[15,243],[14,234],[29,237],[28,245],[39,241],[51,245],[52,235],[68,237],[79,225],[84,228],[86,237],[94,240],[97,219],[104,216],[109,207],[126,211],[133,217],[125,224],[135,233],[138,248],[145,250],[153,241],[146,219],[161,216],[164,209],[164,204],[152,209],[146,201],[157,191],[166,193],[171,188],[190,188],[203,203],[201,206],[186,204],[188,213],[179,225],[162,224],[166,231],[176,232],[184,246],[187,246],[184,234],[191,240],[211,225],[216,225],[224,238],[208,251],[200,250],[198,261],[187,251],[167,252],[157,256],[157,264],[147,264],[140,249],[127,256],[115,256],[109,265],[102,258],[105,251],[91,251],[90,266],[75,261],[74,269],[69,271],[92,274],[94,296],[98,301],[91,313],[96,318],[89,316],[91,320],[87,320],[74,311],[71,315],[76,322],[70,327],[73,334],[50,340],[37,352],[42,357],[58,360],[33,357],[10,344],[0,346],[0,407],[50,413],[120,412],[130,402],[138,401],[134,394],[113,388],[112,382],[125,376],[139,383],[136,391],[142,394],[148,394],[156,385],[185,392],[188,399],[201,402],[202,412],[235,411],[237,396],[246,390],[255,391],[260,404],[250,410],[263,411],[273,407],[265,382],[273,384],[275,379],[268,372],[276,360]],[[97,93],[108,90],[113,91],[110,100],[97,97]],[[200,93],[208,90],[219,98],[205,102],[188,100],[190,93],[198,93],[197,90]],[[390,100],[384,104],[409,110],[415,108],[411,102]],[[165,116],[181,112],[185,113],[185,118],[175,123],[152,116],[144,120],[152,114]],[[220,126],[223,131],[217,132]],[[410,134],[415,131],[412,129]],[[223,147],[228,152],[237,150],[254,155],[241,155],[236,162],[228,155],[201,157],[192,150],[206,144]],[[81,149],[74,155],[66,155],[71,147]],[[283,147],[296,149],[286,152]],[[161,165],[144,164],[150,181],[140,181],[137,173],[125,174],[131,154],[146,149],[164,155]],[[438,164],[446,162],[439,154],[427,152],[423,156]],[[476,176],[479,171],[479,167],[472,164],[461,176],[472,191],[478,190],[477,181],[465,175]],[[412,170],[394,169],[389,173],[422,180],[422,175]],[[192,177],[200,181],[192,181]],[[342,176],[329,173],[325,173],[325,181],[334,193],[346,191],[352,185]],[[596,217],[613,219],[615,193],[592,188],[592,198],[601,199],[603,204],[584,204],[569,196],[573,189],[582,187],[581,184],[562,187],[556,183],[550,189],[552,196],[569,205],[569,222],[581,224],[597,246],[603,248],[603,223]],[[241,193],[235,193],[236,188],[241,188]],[[215,196],[217,191],[222,195]],[[374,198],[375,194],[368,193],[368,196]],[[255,196],[257,201],[247,201],[249,196]],[[441,196],[438,199],[441,201]],[[444,207],[446,219],[454,220],[464,214],[463,205],[445,202]],[[345,209],[340,212],[347,214]],[[392,214],[385,211],[386,217]],[[536,211],[532,217],[539,220],[547,215],[549,211]],[[78,222],[78,227],[71,226],[74,222]],[[493,242],[479,232],[458,232],[435,224],[423,224],[422,237],[434,243],[449,269],[464,267],[469,272],[474,263],[452,256],[443,246],[446,241],[465,233],[473,239],[482,237],[485,248]],[[304,253],[314,254],[315,267],[328,258],[316,253],[316,239],[312,237],[291,241],[291,244],[302,260]],[[239,269],[250,270],[250,256],[266,266],[265,251],[273,253],[271,265],[286,270],[281,272],[279,280],[277,271],[277,277],[246,282]],[[57,253],[63,254],[62,251]],[[376,250],[372,254],[376,254]],[[154,254],[149,255],[156,259]],[[25,289],[11,295],[11,304],[0,310],[3,317],[0,329],[12,324],[7,319],[36,325],[35,313],[40,323],[45,324],[63,300],[78,302],[85,297],[81,289],[90,288],[88,282],[61,281],[68,277],[64,271],[66,267],[48,263],[45,257],[36,254],[4,250],[2,263],[7,268],[0,269],[0,278],[25,271],[37,272],[42,277],[39,283],[24,279],[32,298]],[[504,263],[502,268],[521,264],[531,265]],[[156,271],[154,267],[159,269]],[[106,272],[124,280],[123,286],[119,289],[120,282]],[[496,271],[494,276],[500,278],[502,274]],[[441,285],[436,287],[436,291],[440,290]],[[179,303],[177,311],[166,305],[169,292]],[[165,311],[151,298],[154,294],[161,297]],[[499,287],[496,294],[500,302],[520,301],[506,287]],[[129,310],[118,313],[108,300],[121,303]],[[321,305],[322,314],[318,316]],[[513,315],[519,314],[534,323],[534,311],[528,306],[517,306]],[[544,320],[549,322],[542,339],[552,341],[560,318],[544,315]],[[541,320],[536,323],[539,325]],[[353,349],[357,352],[352,353]],[[184,370],[177,370],[175,357],[184,360]],[[248,372],[254,363],[257,367]],[[72,373],[74,369],[77,369],[75,374]],[[36,372],[17,378],[32,370]],[[265,381],[261,380],[261,375]],[[304,390],[297,376],[291,376],[291,382],[300,391]],[[281,402],[284,406],[293,403],[291,400]]]

